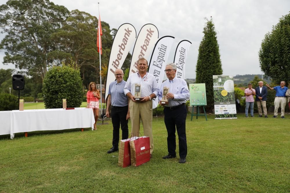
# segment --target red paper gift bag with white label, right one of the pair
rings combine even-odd
[[[143,136],[130,140],[131,166],[150,161],[150,138]]]

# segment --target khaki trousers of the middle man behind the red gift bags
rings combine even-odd
[[[132,136],[142,136],[140,131],[140,118],[142,120],[144,136],[150,137],[150,154],[153,152],[153,136],[152,136],[152,100],[147,102],[130,101],[130,120]]]

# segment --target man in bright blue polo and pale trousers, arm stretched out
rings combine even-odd
[[[276,86],[276,87],[273,87],[271,88],[269,86],[269,84],[266,84],[266,86],[271,89],[271,90],[275,90],[276,91],[276,97],[275,97],[275,100],[274,100],[274,106],[275,106],[275,110],[274,110],[274,116],[273,118],[276,118],[278,116],[278,109],[279,109],[279,106],[281,107],[281,118],[284,119],[284,112],[285,112],[285,106],[286,106],[286,103],[287,103],[287,100],[286,100],[286,91],[288,90],[287,87],[285,87],[285,81],[281,81],[280,82],[280,86]]]

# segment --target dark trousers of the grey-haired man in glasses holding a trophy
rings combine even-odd
[[[167,147],[168,155],[176,155],[176,137],[175,137],[175,126],[177,130],[179,140],[179,156],[185,158],[187,155],[187,144],[185,134],[185,120],[186,120],[186,106],[180,106],[176,109],[171,110],[170,108],[164,108],[164,123],[167,129]]]

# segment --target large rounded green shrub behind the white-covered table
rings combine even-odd
[[[79,107],[83,100],[82,84],[79,69],[64,65],[52,67],[43,80],[45,108],[62,108],[64,98],[68,108]]]

